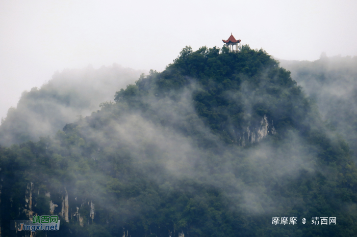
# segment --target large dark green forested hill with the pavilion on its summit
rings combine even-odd
[[[186,47],[114,99],[53,138],[1,147],[4,236],[36,214],[61,216],[47,236],[357,232],[348,143],[264,50]]]

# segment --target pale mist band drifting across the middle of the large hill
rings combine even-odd
[[[260,97],[255,94],[250,102],[259,101]],[[168,176],[174,183],[189,179],[211,185],[220,190],[235,208],[253,215],[284,212],[282,206],[301,201],[300,196],[277,200],[269,190],[271,184],[285,185],[296,179],[301,170],[314,173],[316,169],[323,169],[316,167],[315,155],[309,154],[309,144],[297,132],[289,132],[286,142],[278,146],[267,138],[248,149],[225,144],[199,119],[192,104],[191,89],[186,89],[178,101],[148,96],[142,102],[147,107],[145,113],[125,111],[124,105],[117,108],[119,116],[104,116],[106,123],[102,127],[93,128],[82,120],[81,133],[86,142],[100,147],[91,155],[93,159],[103,159],[106,153],[115,154],[119,147],[125,147],[134,160],[133,167],[158,186],[165,188]],[[246,106],[252,105],[247,102]],[[110,111],[110,105],[103,110]],[[148,119],[152,115],[157,115],[158,120]],[[188,119],[190,123],[187,123]],[[162,121],[169,121],[169,124],[162,125]],[[185,130],[194,135],[184,135]],[[212,147],[222,152],[213,154],[210,149],[202,149],[197,145],[202,139],[212,141]],[[109,169],[106,171],[110,171],[110,163],[105,166]],[[94,190],[98,190],[93,192],[98,198],[103,187],[97,185],[96,179],[98,177],[92,177],[89,182],[95,185]],[[145,193],[141,195],[145,196]],[[113,206],[112,203],[105,208],[111,210]],[[132,215],[139,211],[133,207]]]

